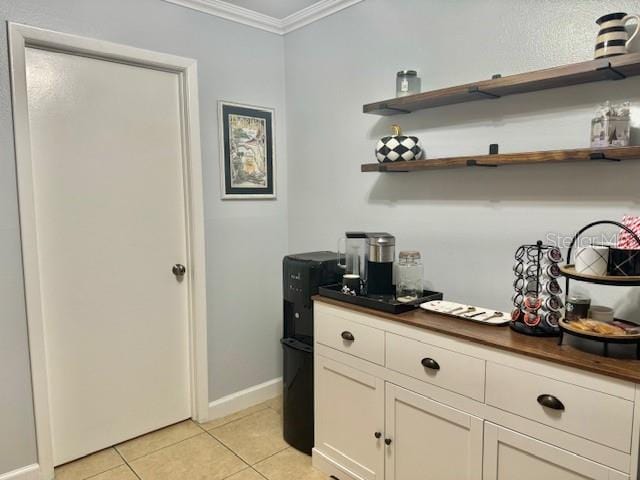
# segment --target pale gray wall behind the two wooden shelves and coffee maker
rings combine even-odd
[[[290,249],[331,247],[345,230],[389,231],[398,250],[423,253],[429,285],[447,299],[510,308],[516,247],[640,213],[640,163],[410,174],[364,174],[360,164],[375,162],[376,140],[395,122],[418,135],[430,157],[488,153],[490,143],[502,152],[586,147],[601,101],[633,100],[640,126],[640,79],[407,116],[364,115],[362,105],[393,97],[400,69],[418,69],[429,90],[589,60],[594,20],[637,7],[624,0],[366,0],[287,35]],[[619,313],[640,303],[635,292],[592,295]]]

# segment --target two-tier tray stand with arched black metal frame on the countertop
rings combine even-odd
[[[562,267],[561,271],[565,277],[565,292],[567,298],[569,297],[569,283],[571,280],[577,280],[580,282],[586,283],[594,283],[597,285],[609,285],[609,286],[640,286],[640,277],[629,277],[629,276],[616,276],[607,274],[606,276],[594,276],[594,275],[584,275],[580,274],[575,270],[574,265],[570,264],[571,262],[571,254],[576,245],[576,242],[580,238],[580,236],[586,232],[587,230],[595,227],[596,225],[614,225],[619,227],[621,230],[627,232],[640,246],[640,237],[631,230],[628,226],[615,222],[613,220],[598,220],[588,225],[582,227],[578,232],[574,235],[571,243],[569,244],[569,250],[567,251],[567,265]],[[608,262],[611,261],[611,258],[608,259]],[[576,330],[570,329],[570,324],[566,324],[564,322],[560,323],[560,338],[558,339],[558,344],[562,345],[564,340],[564,335],[572,335],[575,337],[585,338],[588,340],[593,340],[596,342],[601,342],[603,344],[603,354],[605,357],[609,356],[609,344],[635,344],[636,345],[636,358],[640,360],[640,335],[620,335],[620,336],[607,336],[607,335],[598,335],[591,332],[580,332]]]

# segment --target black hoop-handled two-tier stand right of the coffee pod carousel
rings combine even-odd
[[[633,239],[640,245],[640,237],[638,237],[638,235],[636,235],[636,233],[631,230],[628,226],[623,225],[620,222],[616,222],[613,220],[597,220],[595,222],[591,222],[587,225],[585,225],[584,227],[582,227],[580,230],[578,230],[578,232],[573,236],[573,238],[571,239],[571,243],[569,244],[569,250],[567,251],[567,264],[569,264],[571,262],[571,253],[573,252],[573,247],[575,247],[576,242],[578,241],[578,238],[580,238],[580,235],[582,235],[584,232],[586,232],[587,230],[589,230],[590,228],[595,227],[596,225],[614,225],[616,227],[621,228],[622,230],[626,231],[629,235],[631,235],[633,237]],[[563,271],[563,275],[565,277],[565,295],[568,297],[569,296],[569,282],[571,279],[580,281],[580,282],[587,282],[587,283],[594,283],[594,284],[598,284],[598,285],[609,285],[609,286],[631,286],[633,285],[635,282],[629,282],[629,281],[624,281],[624,277],[620,277],[620,280],[617,281],[616,277],[591,277],[591,276],[581,276],[579,274],[568,274],[565,271]],[[638,285],[640,285],[640,282],[638,283]],[[640,360],[640,338],[638,338],[637,336],[633,336],[633,337],[625,337],[624,335],[620,335],[620,336],[597,336],[594,335],[593,333],[590,332],[578,332],[575,330],[570,330],[568,328],[565,328],[562,323],[560,323],[560,338],[558,339],[558,345],[562,345],[563,341],[564,341],[564,335],[568,334],[568,335],[572,335],[574,337],[579,337],[579,338],[585,338],[585,339],[589,339],[589,340],[593,340],[595,342],[600,342],[603,344],[603,355],[605,357],[609,356],[609,344],[613,343],[613,344],[635,344],[636,345],[636,358],[638,360]]]

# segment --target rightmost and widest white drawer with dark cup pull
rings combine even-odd
[[[501,410],[631,451],[633,403],[622,398],[491,362],[486,398]]]

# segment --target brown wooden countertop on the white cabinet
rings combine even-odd
[[[422,309],[393,315],[321,295],[314,296],[313,300],[461,338],[479,345],[539,358],[620,380],[640,383],[640,360],[608,358],[588,353],[567,345],[568,336],[565,336],[565,344],[560,346],[557,338],[530,337],[514,332],[509,327],[482,325],[468,320],[426,312]],[[635,351],[635,347],[629,348]]]

